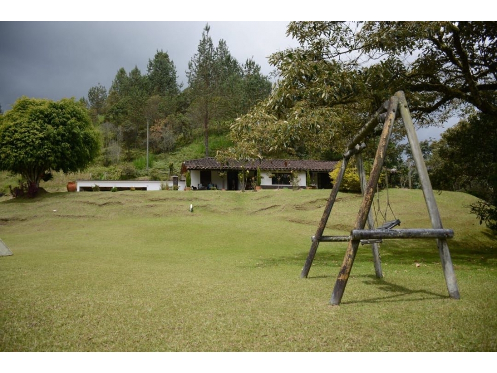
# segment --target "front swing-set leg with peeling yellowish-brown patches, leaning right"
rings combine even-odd
[[[354,229],[364,229],[366,221],[368,219],[368,214],[373,203],[373,197],[375,194],[375,188],[380,179],[380,172],[383,166],[383,161],[385,160],[386,149],[388,147],[388,141],[393,129],[393,122],[395,120],[395,114],[399,106],[399,99],[393,96],[388,105],[388,111],[385,118],[385,123],[383,125],[383,131],[381,133],[380,143],[376,151],[375,161],[373,163],[373,170],[371,171],[370,179],[366,187],[364,197],[362,199],[361,206],[359,208],[359,213],[354,224]],[[332,299],[330,303],[333,305],[339,305],[347,281],[349,279],[350,271],[352,270],[352,265],[354,264],[355,255],[357,254],[357,249],[359,247],[359,240],[350,240],[347,246],[347,251],[345,252],[345,257],[342,263],[342,268],[337,277],[335,283],[335,288],[333,289]]]

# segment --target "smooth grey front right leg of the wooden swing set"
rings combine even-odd
[[[437,202],[435,201],[435,194],[433,193],[432,183],[429,181],[428,171],[426,170],[426,165],[424,164],[423,154],[421,152],[421,147],[419,146],[418,137],[414,129],[412,122],[411,113],[409,112],[409,107],[407,106],[406,97],[404,92],[400,91],[395,94],[400,101],[400,112],[402,115],[402,120],[407,131],[407,139],[411,146],[411,152],[414,159],[414,164],[418,170],[419,182],[421,183],[421,188],[424,194],[424,200],[426,201],[426,207],[428,209],[428,214],[430,221],[432,222],[432,227],[436,229],[442,229],[442,219],[440,218],[440,212],[438,210]],[[442,269],[444,271],[445,283],[447,284],[447,290],[449,291],[449,296],[453,299],[459,299],[459,289],[457,287],[457,280],[455,277],[454,266],[452,265],[452,259],[450,258],[449,246],[446,239],[437,239],[437,246],[440,254],[440,260],[442,262]]]

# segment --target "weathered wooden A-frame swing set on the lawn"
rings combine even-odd
[[[428,215],[432,223],[432,228],[429,229],[393,229],[401,223],[401,221],[396,219],[395,216],[393,221],[384,222],[381,227],[374,229],[375,219],[373,217],[371,207],[373,205],[375,190],[377,189],[381,169],[385,160],[388,141],[390,140],[393,129],[393,123],[399,115],[402,117],[402,121],[404,122],[404,126],[406,128],[412,157],[419,174],[419,181],[423,190],[424,200],[426,202]],[[360,156],[362,149],[366,147],[363,140],[370,136],[378,123],[381,123],[382,121],[383,131],[381,133],[378,149],[376,151],[370,178],[369,181],[366,182],[366,173],[364,171],[362,158]],[[357,171],[363,195],[354,227],[352,228],[349,236],[323,236],[324,228],[326,227],[326,223],[332,211],[340,184],[342,183],[342,179],[345,174],[345,169],[347,168],[347,164],[352,156],[356,156]],[[387,206],[389,206],[389,201],[387,202]],[[368,224],[369,229],[365,229],[366,223]],[[359,130],[347,146],[347,149],[343,154],[342,167],[337,179],[335,180],[335,184],[328,201],[326,202],[326,206],[324,207],[323,216],[319,223],[318,229],[316,234],[312,236],[311,248],[304,264],[304,268],[302,269],[301,278],[307,277],[309,274],[319,242],[348,241],[343,264],[338,274],[332,298],[330,300],[331,304],[339,305],[342,300],[345,286],[347,285],[350,271],[352,270],[352,265],[360,243],[371,244],[376,277],[382,278],[383,272],[381,269],[381,260],[378,248],[378,243],[381,242],[381,240],[391,238],[436,238],[449,296],[453,299],[459,299],[459,290],[457,288],[454,267],[450,258],[449,246],[447,245],[447,239],[452,238],[453,236],[453,230],[444,229],[442,226],[442,220],[435,201],[432,184],[429,181],[428,172],[426,170],[426,165],[424,164],[421,148],[419,146],[419,141],[414,129],[406,97],[403,91],[398,91],[390,98],[390,100],[386,101],[382,107],[377,110],[373,118],[371,118]]]

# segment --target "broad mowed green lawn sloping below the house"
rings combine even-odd
[[[402,228],[428,228],[421,191],[390,190]],[[495,236],[437,202],[460,300],[434,240],[388,240],[377,279],[360,246],[340,306],[347,243],[300,272],[329,191],[48,193],[0,202],[0,351],[496,351]],[[383,207],[385,194],[381,194]],[[339,194],[325,234],[361,197]],[[193,204],[193,212],[189,205]],[[420,266],[416,266],[416,263]]]

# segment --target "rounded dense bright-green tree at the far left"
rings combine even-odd
[[[0,117],[0,170],[20,174],[31,193],[51,171],[86,168],[100,145],[87,110],[74,99],[22,97]]]

